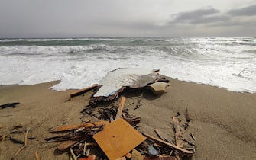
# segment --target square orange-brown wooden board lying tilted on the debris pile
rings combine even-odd
[[[105,125],[104,129],[93,136],[110,160],[122,158],[146,137],[142,136],[122,118]]]

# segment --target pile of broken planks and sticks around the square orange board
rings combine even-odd
[[[116,107],[89,107],[83,113],[95,117],[96,122],[51,128],[58,136],[47,138],[47,142],[60,142],[57,149],[70,152],[70,159],[184,159],[195,152],[195,139],[184,139],[179,115],[173,117],[175,141],[170,142],[154,130],[159,137],[138,131],[140,117],[129,114],[125,108],[125,97]],[[101,120],[101,121],[100,121]],[[186,110],[186,123],[190,121]],[[60,134],[62,133],[62,134]]]

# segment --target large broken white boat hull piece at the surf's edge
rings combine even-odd
[[[160,75],[159,71],[160,69],[115,69],[105,75],[99,85],[93,85],[96,89],[89,104],[118,98],[118,94],[125,88],[148,87],[154,94],[163,94],[169,80]]]

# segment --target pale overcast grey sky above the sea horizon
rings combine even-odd
[[[0,38],[256,37],[255,0],[0,0]]]

